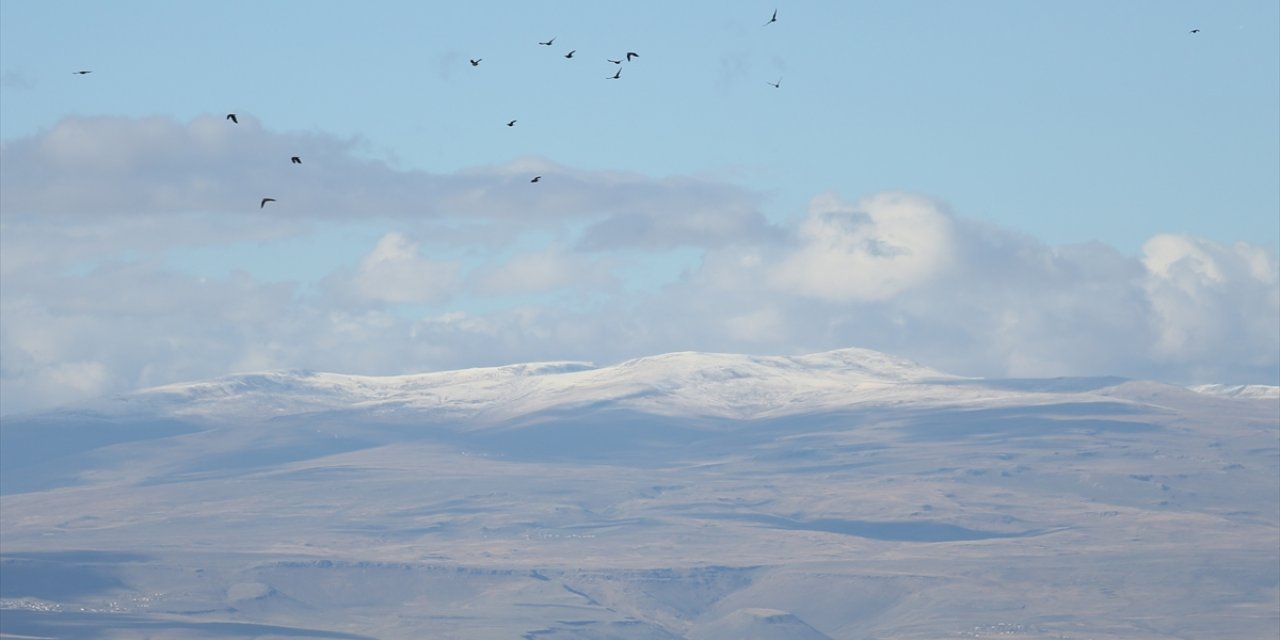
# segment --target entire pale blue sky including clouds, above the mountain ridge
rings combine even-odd
[[[0,145],[4,415],[672,351],[1280,384],[1270,0],[5,0]]]

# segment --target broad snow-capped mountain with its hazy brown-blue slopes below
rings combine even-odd
[[[852,348],[157,387],[0,422],[0,634],[1268,637],[1277,399]]]

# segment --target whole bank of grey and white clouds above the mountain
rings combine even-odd
[[[541,159],[429,174],[362,154],[247,115],[73,119],[5,142],[0,410],[246,370],[680,349],[856,346],[988,376],[1280,376],[1268,247],[1176,234],[1153,234],[1140,256],[1048,246],[899,192],[818,195],[774,224],[759,195],[712,180]],[[259,210],[266,195],[278,202]],[[312,282],[169,260],[352,221],[380,237]],[[673,270],[673,252],[694,261]]]

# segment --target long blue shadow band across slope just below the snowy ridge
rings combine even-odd
[[[805,442],[796,448],[795,436],[877,425],[888,428],[879,438],[896,439],[896,431],[911,440],[1135,433],[1158,429],[1143,421],[1152,411],[1126,402],[1068,402],[977,410],[868,407],[735,420],[645,413],[603,402],[488,424],[451,422],[430,411],[385,407],[236,424],[59,412],[10,420],[0,428],[0,494],[74,485],[90,470],[124,468],[146,475],[147,483],[173,483],[406,442],[539,462],[646,467],[759,449],[755,453],[776,462],[791,457],[815,463],[836,453],[831,443]],[[778,444],[783,438],[788,445]]]

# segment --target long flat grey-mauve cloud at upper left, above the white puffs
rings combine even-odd
[[[433,174],[367,157],[357,138],[266,129],[251,114],[68,118],[5,141],[0,210],[10,215],[228,214],[294,220],[500,220],[586,224],[588,248],[713,244],[771,232],[759,197],[695,178],[582,172],[525,157]],[[292,156],[303,164],[294,165]],[[543,180],[530,184],[530,175]],[[260,210],[262,197],[276,202]]]

